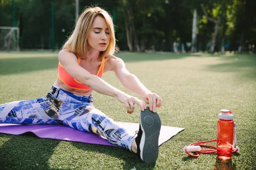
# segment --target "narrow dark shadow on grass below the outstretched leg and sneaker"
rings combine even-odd
[[[125,162],[122,167],[123,170],[152,170],[155,167],[155,163],[144,163],[136,154],[123,148],[78,142],[73,142],[73,146],[79,150],[104,153],[111,157],[116,157]]]

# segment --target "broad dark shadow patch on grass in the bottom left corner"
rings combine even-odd
[[[23,135],[0,134],[9,138],[0,147],[2,170],[51,169],[49,159],[60,140],[41,139],[34,133]]]

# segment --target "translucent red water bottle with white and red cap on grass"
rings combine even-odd
[[[217,124],[217,157],[231,159],[234,135],[233,114],[229,110],[221,110]]]

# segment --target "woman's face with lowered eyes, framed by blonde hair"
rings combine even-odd
[[[88,36],[88,43],[91,48],[105,51],[110,41],[108,25],[103,17],[95,17]]]

